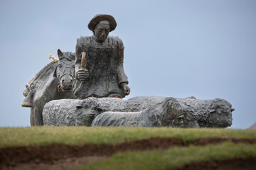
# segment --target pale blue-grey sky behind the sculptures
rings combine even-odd
[[[26,83],[57,50],[75,52],[97,13],[117,21],[134,96],[224,98],[231,128],[256,122],[256,1],[0,1],[0,126],[29,126]]]

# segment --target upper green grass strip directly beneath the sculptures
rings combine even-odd
[[[193,141],[200,137],[233,137],[255,139],[255,130],[181,129],[181,128],[92,128],[33,127],[0,128],[0,148],[27,145],[82,145],[85,143],[114,145],[149,137],[176,137]]]

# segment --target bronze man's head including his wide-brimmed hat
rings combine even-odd
[[[95,38],[99,42],[104,42],[107,35],[116,28],[117,22],[114,17],[106,14],[97,14],[88,24],[88,28],[92,30]]]

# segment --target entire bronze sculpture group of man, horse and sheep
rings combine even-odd
[[[59,61],[50,55],[53,62],[23,92],[22,106],[31,107],[31,125],[225,128],[232,124],[234,109],[221,98],[122,100],[130,89],[123,67],[123,42],[108,36],[116,26],[112,16],[98,14],[88,24],[93,35],[78,38],[75,55],[58,50]],[[55,100],[62,98],[71,99]]]

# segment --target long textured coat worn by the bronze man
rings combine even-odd
[[[119,84],[128,84],[123,68],[123,51],[123,42],[118,37],[108,36],[102,43],[97,42],[94,36],[78,38],[75,64],[80,69],[82,52],[86,52],[85,67],[89,77],[85,81],[77,81],[75,96],[124,98],[119,88]]]

